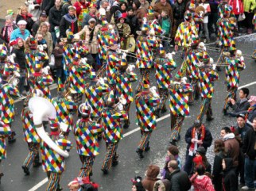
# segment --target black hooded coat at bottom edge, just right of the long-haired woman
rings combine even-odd
[[[238,190],[238,177],[235,174],[233,166],[233,159],[225,158],[226,169],[223,170],[223,185],[226,191]]]

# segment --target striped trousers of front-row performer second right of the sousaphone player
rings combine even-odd
[[[105,155],[105,159],[103,161],[102,170],[109,170],[111,168],[112,162],[117,160],[118,155],[116,151],[118,150],[118,142],[117,143],[106,143],[107,153]]]

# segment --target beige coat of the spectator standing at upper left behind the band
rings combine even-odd
[[[89,44],[91,31],[89,30],[88,25],[85,25],[83,27],[83,29],[80,32],[76,33],[76,35],[75,35],[75,36],[77,36],[77,35],[82,36],[83,35],[82,40],[84,40],[84,44],[89,49],[89,52],[91,54],[97,54],[98,53],[97,34],[99,32],[99,29],[100,29],[100,25],[96,25],[95,29],[94,29],[94,32],[93,32],[93,37],[92,37],[92,40],[91,40],[91,44]]]

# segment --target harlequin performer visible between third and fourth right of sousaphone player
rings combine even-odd
[[[159,57],[154,60],[154,67],[156,68],[156,79],[157,79],[157,89],[161,97],[161,104],[158,105],[156,109],[156,116],[159,117],[159,113],[166,112],[165,102],[169,96],[169,85],[172,81],[171,72],[176,69],[176,63],[173,60],[173,55],[171,53],[165,53],[165,49],[162,44],[159,45]]]

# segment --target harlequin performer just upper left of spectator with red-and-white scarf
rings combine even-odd
[[[192,85],[181,81],[181,73],[175,75],[175,81],[169,86],[170,94],[170,115],[171,115],[171,136],[170,143],[176,145],[180,139],[180,130],[184,117],[189,116],[188,96],[192,94]]]

